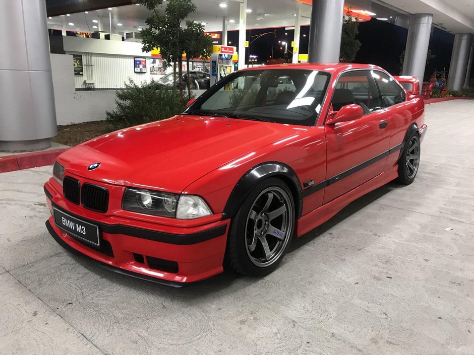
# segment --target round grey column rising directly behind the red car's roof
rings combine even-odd
[[[338,63],[344,0],[313,0],[309,62]]]

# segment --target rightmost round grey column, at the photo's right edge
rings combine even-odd
[[[471,43],[472,35],[470,33],[456,33],[454,35],[453,53],[448,70],[448,88],[451,90],[461,90],[464,85]]]

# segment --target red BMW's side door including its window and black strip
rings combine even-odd
[[[360,119],[325,125],[327,145],[326,179],[323,203],[362,185],[384,171],[390,132],[387,113],[369,70],[342,74],[331,100],[333,110],[348,104],[364,109]]]

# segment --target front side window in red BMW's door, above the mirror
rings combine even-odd
[[[378,96],[369,70],[354,70],[339,77],[331,104],[334,111],[345,105],[357,104],[364,114],[368,114],[380,108]]]

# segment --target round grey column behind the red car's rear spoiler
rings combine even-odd
[[[410,16],[408,26],[402,74],[417,77],[420,81],[420,89],[425,76],[432,20],[432,14],[414,14]]]

